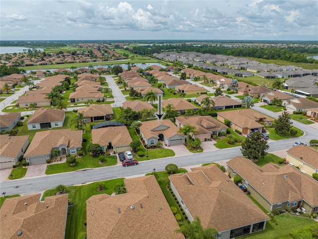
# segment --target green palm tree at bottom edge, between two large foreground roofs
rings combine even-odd
[[[195,216],[191,223],[181,222],[180,229],[176,229],[174,232],[182,233],[186,239],[217,239],[218,237],[218,232],[214,228],[202,228],[198,216]]]

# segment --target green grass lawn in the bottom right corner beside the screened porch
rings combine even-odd
[[[289,214],[275,216],[278,225],[271,221],[266,222],[265,230],[253,233],[240,239],[289,239],[289,233],[316,224],[313,219],[297,217]]]

